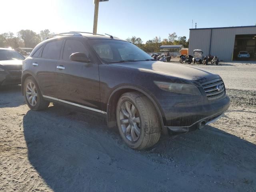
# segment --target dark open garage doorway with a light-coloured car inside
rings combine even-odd
[[[233,60],[256,61],[256,34],[236,35]]]

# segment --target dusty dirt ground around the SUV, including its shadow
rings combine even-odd
[[[0,191],[256,191],[256,64],[202,66],[231,105],[202,130],[134,151],[104,116],[53,105],[29,110],[20,86],[0,88]]]

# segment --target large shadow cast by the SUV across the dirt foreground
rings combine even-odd
[[[256,146],[212,126],[128,148],[105,118],[63,106],[29,110],[28,158],[55,192],[254,191]]]

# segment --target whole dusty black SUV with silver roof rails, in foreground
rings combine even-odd
[[[217,120],[230,99],[219,75],[159,62],[112,36],[49,36],[26,58],[22,93],[32,110],[60,102],[106,115],[134,149],[163,134],[186,133]]]

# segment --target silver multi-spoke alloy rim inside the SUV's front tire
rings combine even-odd
[[[140,116],[136,107],[125,101],[120,109],[120,124],[125,137],[135,142],[140,137]]]

